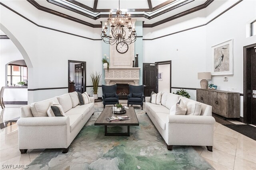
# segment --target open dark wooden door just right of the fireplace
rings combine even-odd
[[[143,81],[144,87],[144,96],[150,96],[152,92],[156,91],[156,64],[152,63],[143,63]]]

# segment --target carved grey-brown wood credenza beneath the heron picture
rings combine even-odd
[[[240,117],[240,93],[196,89],[196,101],[212,106],[212,112],[225,118]]]

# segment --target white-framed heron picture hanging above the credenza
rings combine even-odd
[[[234,74],[234,39],[212,46],[212,75]]]

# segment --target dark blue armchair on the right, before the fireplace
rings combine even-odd
[[[144,100],[144,85],[132,86],[129,85],[129,95],[127,96],[127,105],[140,105],[143,110],[143,100]]]

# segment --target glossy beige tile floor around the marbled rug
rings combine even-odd
[[[121,103],[126,103],[121,101]],[[95,107],[102,107],[95,103]],[[6,107],[20,107],[9,105]],[[1,111],[1,109],[0,109]],[[239,123],[233,121],[232,123]],[[256,170],[256,141],[228,127],[215,123],[213,152],[206,147],[194,149],[208,161],[216,170]],[[26,154],[20,154],[18,149],[18,127],[13,124],[0,130],[0,166],[24,165],[33,161],[43,149],[29,149]],[[17,170],[18,168],[15,168]]]

